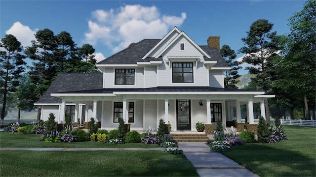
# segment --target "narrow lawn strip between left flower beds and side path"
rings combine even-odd
[[[129,143],[106,145],[100,142],[45,143],[40,142],[41,135],[22,133],[0,133],[1,148],[158,148],[158,145]]]

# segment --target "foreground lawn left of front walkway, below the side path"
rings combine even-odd
[[[185,155],[157,150],[0,150],[0,176],[198,176]]]

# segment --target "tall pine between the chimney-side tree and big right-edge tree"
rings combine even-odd
[[[249,31],[247,37],[242,38],[246,46],[242,47],[239,52],[245,54],[242,62],[246,62],[253,66],[246,67],[250,74],[255,74],[256,77],[252,81],[258,84],[268,93],[271,88],[271,76],[273,75],[273,60],[278,55],[280,50],[278,46],[279,36],[276,32],[271,32],[273,24],[268,20],[259,19],[255,21]],[[265,99],[266,120],[270,121],[268,99]]]

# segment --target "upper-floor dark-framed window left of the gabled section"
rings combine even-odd
[[[135,69],[115,69],[115,85],[134,85]]]

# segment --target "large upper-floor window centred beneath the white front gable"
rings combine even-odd
[[[193,63],[172,63],[173,83],[193,83]]]

